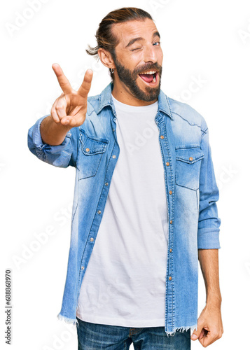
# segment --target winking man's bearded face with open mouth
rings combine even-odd
[[[113,61],[114,84],[139,100],[151,102],[160,93],[163,53],[153,20],[133,20],[113,26],[118,38]]]

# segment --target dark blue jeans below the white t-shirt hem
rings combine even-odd
[[[190,350],[190,329],[174,335],[165,333],[164,327],[130,328],[103,325],[78,320],[78,350]]]

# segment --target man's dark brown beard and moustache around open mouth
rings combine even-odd
[[[160,64],[157,62],[146,64],[145,66],[141,66],[133,71],[130,71],[130,69],[125,68],[125,66],[118,62],[116,55],[113,55],[113,62],[116,64],[118,77],[129,88],[134,97],[145,102],[151,102],[158,98],[158,95],[160,94],[160,82],[162,75],[162,66],[160,66]],[[144,71],[158,71],[159,83],[157,87],[145,86],[145,90],[140,89],[137,84],[137,78],[139,77],[138,74],[143,73]]]

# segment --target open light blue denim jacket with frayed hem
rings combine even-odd
[[[81,282],[88,267],[119,158],[116,110],[110,83],[88,97],[81,127],[67,133],[60,146],[43,144],[41,120],[29,129],[29,150],[56,167],[76,167],[71,241],[62,309],[58,318],[77,323]],[[221,248],[216,201],[218,187],[204,118],[188,104],[160,90],[155,123],[165,172],[169,216],[166,266],[165,332],[197,328],[198,249]],[[156,150],[155,150],[156,152]],[[153,179],[152,179],[153,181]],[[150,186],[150,184],[148,184]]]

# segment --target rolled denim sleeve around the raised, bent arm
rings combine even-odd
[[[43,144],[40,133],[40,125],[44,118],[43,116],[29,129],[28,132],[28,147],[37,158],[43,162],[54,165],[55,167],[66,168],[69,165],[76,167],[76,157],[78,151],[78,128],[73,127],[58,146],[50,146]]]

